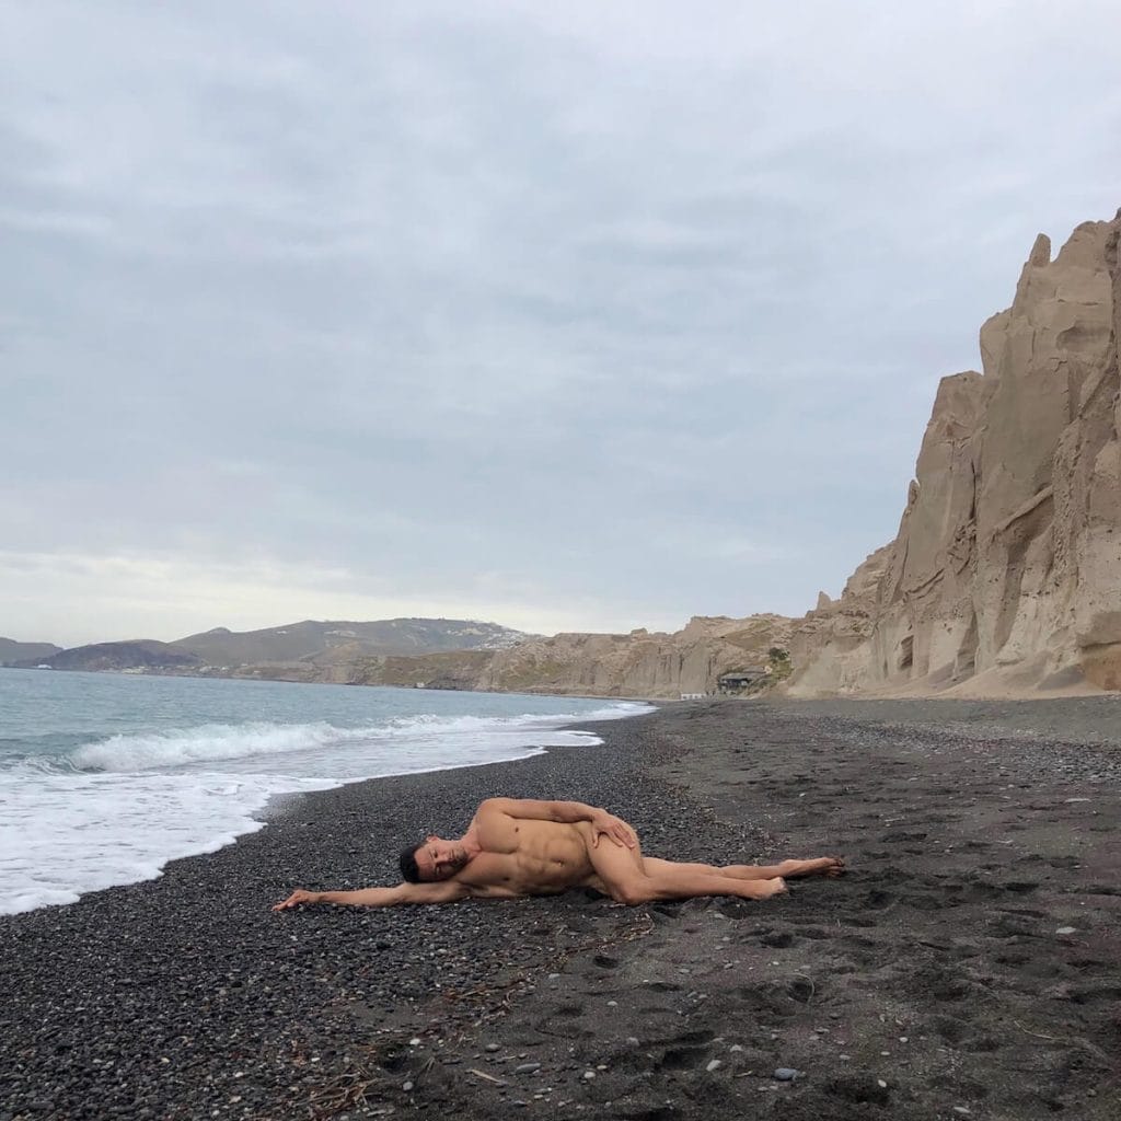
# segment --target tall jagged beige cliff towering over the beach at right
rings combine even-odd
[[[944,378],[896,539],[791,640],[795,696],[1121,688],[1121,212],[1040,234]]]

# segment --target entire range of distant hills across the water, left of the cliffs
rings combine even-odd
[[[156,673],[237,671],[248,666],[328,667],[358,658],[419,657],[453,650],[507,650],[538,636],[469,619],[318,621],[231,631],[225,627],[174,642],[138,639],[64,650],[49,642],[0,639],[0,665]]]

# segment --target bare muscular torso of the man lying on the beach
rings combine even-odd
[[[476,896],[548,896],[595,879],[586,822],[560,824],[481,812],[466,836],[482,852],[455,877]]]

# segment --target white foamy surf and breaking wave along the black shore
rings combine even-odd
[[[275,795],[594,745],[596,736],[560,725],[643,711],[615,704],[548,715],[424,714],[360,728],[198,724],[106,736],[50,766],[24,760],[0,771],[0,914],[158,877],[169,860],[261,828]]]

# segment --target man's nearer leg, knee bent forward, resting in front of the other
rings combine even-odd
[[[725,876],[710,864],[675,864],[646,860],[642,850],[601,842],[587,849],[596,878],[612,899],[623,904],[657,899],[695,899],[700,896],[735,896],[766,899],[786,890],[779,877],[760,879]],[[741,865],[748,867],[748,865]]]

